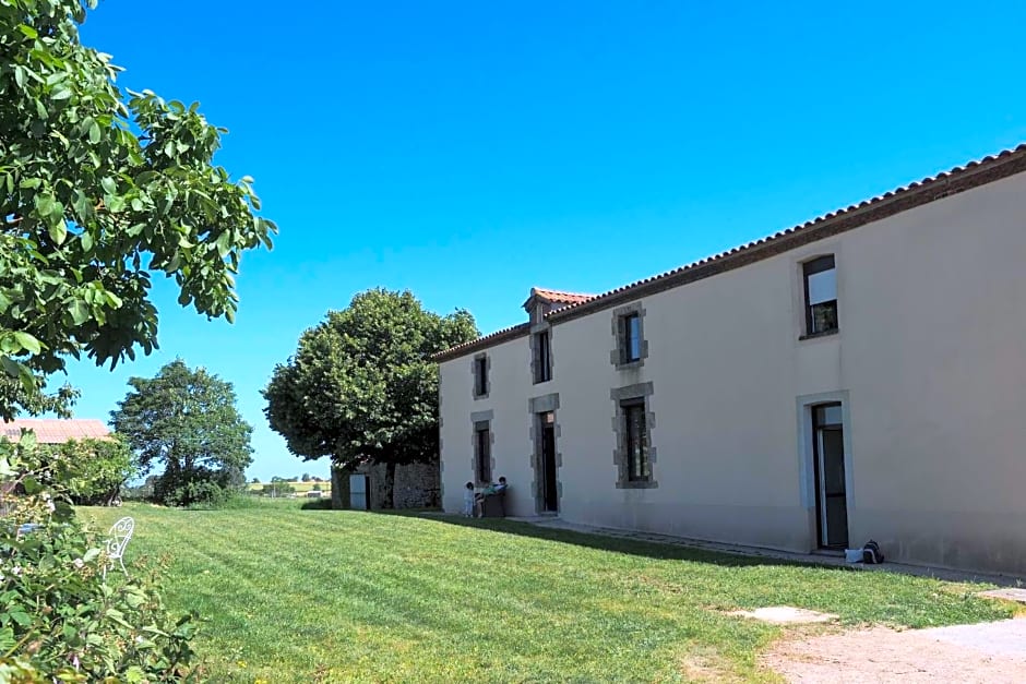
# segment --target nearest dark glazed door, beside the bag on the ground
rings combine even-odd
[[[848,495],[845,488],[845,440],[840,404],[812,407],[816,528],[820,547],[848,545]]]

